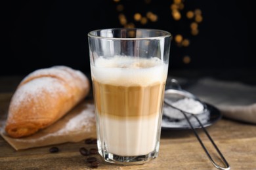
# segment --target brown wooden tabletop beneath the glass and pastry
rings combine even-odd
[[[0,118],[4,119],[9,102],[20,77],[0,78]],[[256,126],[222,118],[207,127],[231,169],[256,169]],[[217,154],[202,130],[198,130],[205,145],[218,160]],[[16,151],[0,137],[0,169],[91,169],[79,153],[79,148],[95,148],[93,144],[57,144],[58,153],[50,153],[51,146]],[[96,155],[100,160],[100,156]],[[221,164],[221,163],[220,163]],[[110,165],[100,160],[97,169],[216,169],[207,158],[202,146],[191,130],[161,131],[158,158],[144,165]]]

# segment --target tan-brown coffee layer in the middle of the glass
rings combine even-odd
[[[148,86],[115,86],[93,80],[98,114],[112,118],[137,118],[159,114],[163,105],[164,82]]]

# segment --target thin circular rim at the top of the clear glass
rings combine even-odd
[[[135,38],[122,38],[122,37],[103,37],[103,36],[98,36],[98,35],[93,35],[96,31],[106,31],[106,30],[121,30],[121,29],[126,29],[126,30],[141,30],[141,31],[160,31],[165,33],[165,35],[161,36],[154,36],[154,37],[135,37]],[[146,40],[146,39],[163,39],[166,37],[172,37],[171,33],[169,31],[165,31],[162,29],[152,29],[152,28],[106,28],[106,29],[95,29],[93,31],[90,31],[88,34],[88,37],[93,37],[95,39],[110,39],[110,40]]]

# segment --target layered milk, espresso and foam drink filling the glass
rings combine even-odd
[[[158,153],[167,70],[154,57],[95,59],[91,75],[102,156]]]

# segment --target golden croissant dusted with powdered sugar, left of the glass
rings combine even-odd
[[[59,65],[27,75],[12,95],[5,131],[14,138],[50,126],[89,93],[89,79],[81,71]]]

